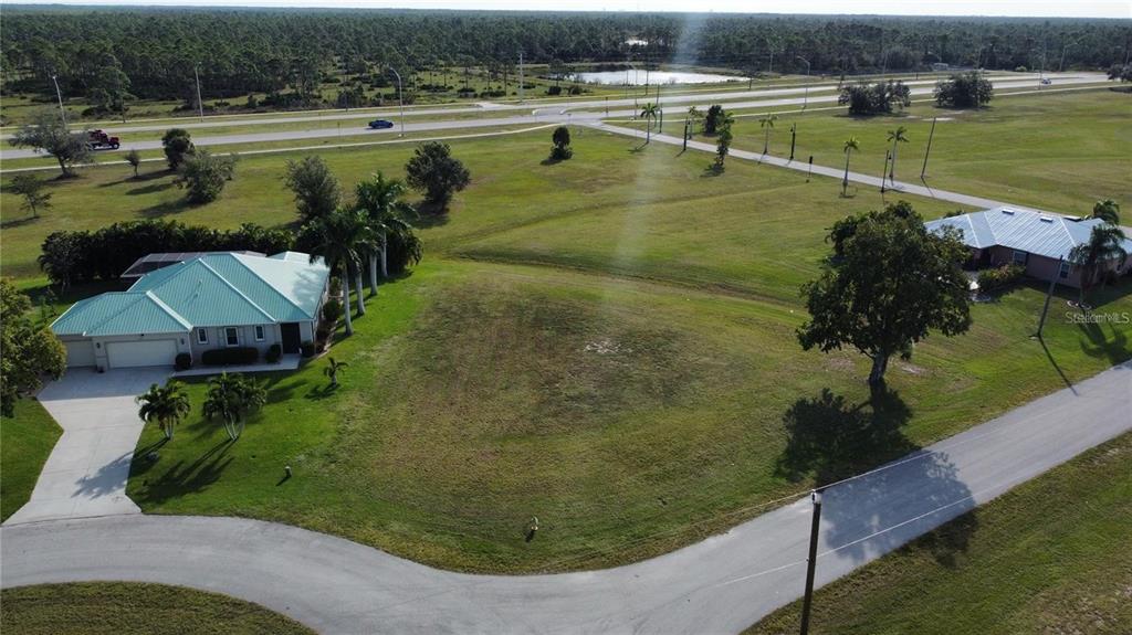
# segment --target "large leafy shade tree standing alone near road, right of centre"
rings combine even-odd
[[[911,206],[849,217],[830,234],[837,258],[803,287],[809,321],[798,329],[806,350],[851,346],[873,362],[868,383],[884,384],[893,355],[938,331],[971,324],[967,247],[952,233],[928,232]]]

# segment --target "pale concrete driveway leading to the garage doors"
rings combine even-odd
[[[134,398],[164,383],[169,368],[95,373],[68,371],[49,383],[40,403],[63,434],[35,482],[32,498],[5,524],[43,520],[137,514],[126,496],[130,460],[142,434]]]

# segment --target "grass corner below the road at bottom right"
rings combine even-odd
[[[813,632],[1132,632],[1130,460],[1125,434],[818,590]],[[938,562],[933,546],[970,515],[979,529],[966,551]],[[795,602],[746,633],[797,633],[800,610]]]

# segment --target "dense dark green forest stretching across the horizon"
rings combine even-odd
[[[0,75],[9,89],[117,112],[128,97],[206,98],[317,92],[341,75],[387,85],[475,66],[644,61],[743,72],[860,73],[942,62],[988,69],[1126,63],[1126,20],[411,10],[31,8],[5,10]],[[799,58],[804,58],[803,61]],[[15,86],[11,86],[15,84]]]

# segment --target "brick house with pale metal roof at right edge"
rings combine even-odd
[[[1069,253],[1077,245],[1089,242],[1092,228],[1101,224],[1104,221],[1099,218],[1074,219],[996,207],[929,220],[925,226],[933,232],[943,227],[959,229],[979,268],[1021,264],[1031,278],[1050,280],[1057,277],[1060,284],[1078,288],[1081,286],[1081,271],[1070,264]],[[1132,253],[1132,240],[1124,243],[1125,251]],[[1130,260],[1108,262],[1104,268],[1123,275],[1132,267]]]

